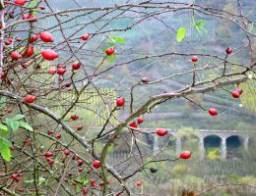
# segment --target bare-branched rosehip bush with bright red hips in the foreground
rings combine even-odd
[[[211,116],[218,115],[216,109],[205,108],[190,95],[221,88],[238,98],[242,93],[239,84],[255,78],[254,24],[243,14],[239,0],[239,14],[203,3],[120,1],[92,6],[72,0],[67,1],[70,8],[57,10],[54,6],[61,5],[52,2],[0,1],[0,189],[10,195],[131,195],[129,182],[147,171],[148,165],[191,156],[186,151],[175,158],[162,158],[159,150],[158,156],[145,159],[139,136],[167,135],[164,128],[141,128],[145,114],[166,102],[186,99],[214,118]],[[164,21],[166,15],[181,14],[191,19],[189,27],[199,34],[205,33],[206,22],[200,19],[201,15],[236,25],[239,39],[246,45],[200,52],[198,48],[204,46],[204,41],[191,47],[188,27],[181,21],[174,27]],[[164,25],[170,37],[162,40],[157,34],[159,38],[154,41],[156,34],[149,34],[147,45],[152,50],[137,50],[141,39],[133,29],[152,20]],[[128,48],[126,44],[132,36],[135,41]],[[168,41],[175,42],[177,51],[169,52],[164,47]],[[159,48],[159,43],[163,47]],[[184,47],[189,51],[184,52]],[[233,61],[234,57],[240,58],[240,63]],[[187,67],[169,74],[169,68],[163,65],[170,62]],[[156,64],[162,65],[158,71],[165,76],[142,75]],[[140,77],[134,79],[134,74]],[[186,85],[148,92],[150,86],[173,78],[185,80]],[[228,85],[232,92],[224,89]],[[88,121],[90,116],[93,118]],[[110,149],[123,133],[132,141],[127,143],[130,157],[118,165],[129,167],[132,157],[137,163],[132,172],[118,171],[107,163]],[[141,181],[135,186],[142,186]]]

